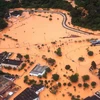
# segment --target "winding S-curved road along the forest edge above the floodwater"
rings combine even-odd
[[[85,31],[82,31],[82,30],[78,30],[78,29],[75,29],[75,28],[72,28],[72,27],[69,27],[66,22],[67,22],[67,16],[65,13],[62,13],[62,12],[54,12],[54,11],[48,11],[48,10],[34,10],[35,12],[47,12],[47,13],[55,13],[55,14],[59,14],[63,17],[63,21],[62,21],[62,26],[68,30],[71,30],[71,31],[74,31],[74,32],[78,32],[78,33],[81,33],[81,34],[85,34],[85,35],[93,35],[91,34],[90,32],[85,32]]]

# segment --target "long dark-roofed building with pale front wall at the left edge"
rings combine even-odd
[[[12,60],[12,59],[5,59],[2,63],[1,66],[5,66],[5,67],[12,67],[12,68],[17,68],[18,66],[21,65],[23,61],[20,60]]]

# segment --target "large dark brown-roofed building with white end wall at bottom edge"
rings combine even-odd
[[[34,85],[30,88],[26,88],[23,92],[21,92],[14,100],[39,100],[39,92],[44,89],[42,85]],[[38,94],[37,94],[38,92]]]

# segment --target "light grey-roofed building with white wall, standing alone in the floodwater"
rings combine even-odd
[[[31,71],[30,75],[32,76],[43,76],[43,74],[46,72],[47,66],[41,66],[40,64],[37,64]]]

